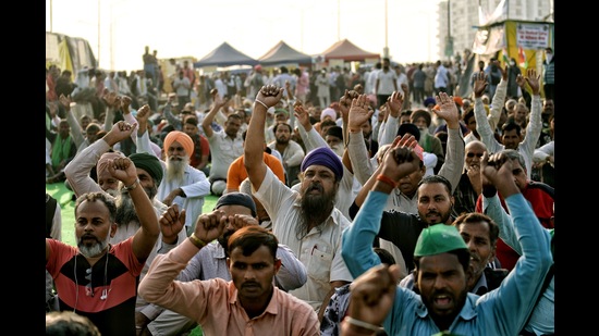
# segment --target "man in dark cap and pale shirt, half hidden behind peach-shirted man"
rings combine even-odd
[[[181,282],[192,282],[195,279],[207,281],[210,278],[231,279],[231,272],[227,266],[227,241],[242,225],[258,225],[256,203],[250,195],[243,192],[229,192],[222,195],[215,206],[215,211],[205,213],[201,216],[218,219],[219,211],[224,212],[230,219],[230,224],[224,228],[217,244],[208,244],[199,252],[197,249],[192,252],[193,256],[178,279]],[[217,211],[218,210],[218,211]],[[241,219],[248,219],[242,222]],[[241,223],[242,225],[236,225]],[[174,252],[173,252],[174,253]],[[281,260],[281,267],[274,275],[274,284],[282,290],[301,287],[306,283],[306,266],[295,257],[295,254],[284,245],[279,244],[277,258]],[[147,315],[143,324],[151,335],[181,335],[193,329],[197,323],[172,310],[151,304],[156,308],[154,315]]]

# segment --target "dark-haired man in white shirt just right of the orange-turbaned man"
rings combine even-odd
[[[241,115],[236,113],[225,113],[227,121],[222,125],[222,129],[215,130],[212,121],[225,105],[227,100],[217,92],[212,95],[212,108],[204,116],[201,129],[204,129],[204,134],[210,144],[210,155],[212,158],[209,175],[210,192],[221,196],[227,189],[229,165],[243,154],[243,139],[240,132],[243,121]]]

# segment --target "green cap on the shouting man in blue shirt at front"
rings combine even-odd
[[[420,233],[416,249],[414,249],[414,257],[440,254],[457,249],[468,249],[457,228],[445,224],[435,224]]]

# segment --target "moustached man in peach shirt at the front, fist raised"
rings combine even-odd
[[[182,283],[176,276],[207,241],[219,238],[230,217],[217,210],[204,214],[195,232],[179,247],[158,256],[139,283],[139,295],[180,312],[207,335],[319,335],[316,313],[304,301],[273,285],[281,267],[277,237],[259,225],[237,229],[227,240],[231,281],[210,278]],[[170,207],[160,225],[181,226],[185,211]]]

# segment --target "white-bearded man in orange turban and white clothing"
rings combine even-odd
[[[137,153],[150,152],[150,140],[146,128],[149,113],[137,112],[139,130],[137,132]],[[171,130],[164,137],[163,149],[166,161],[160,160],[163,177],[158,187],[157,197],[166,206],[178,203],[185,209],[185,229],[193,232],[197,216],[201,214],[205,197],[210,194],[210,183],[204,172],[190,165],[194,153],[194,141],[184,132]]]

